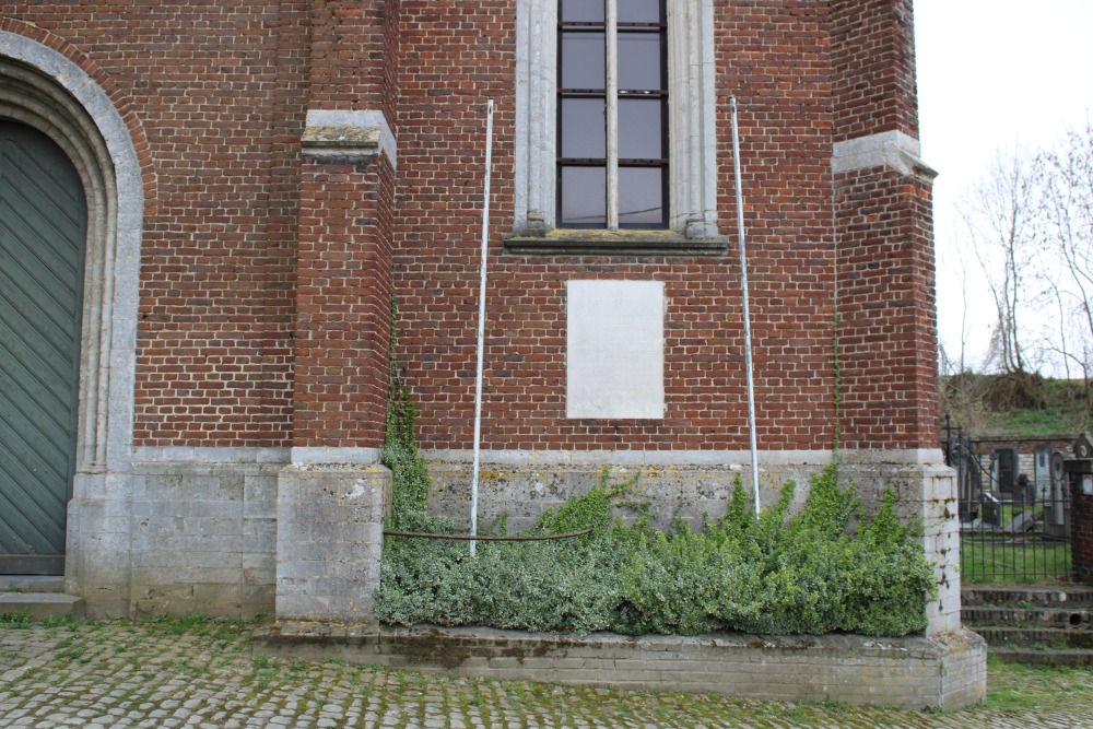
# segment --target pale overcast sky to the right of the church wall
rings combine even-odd
[[[962,281],[954,204],[1000,149],[1051,145],[1093,117],[1093,0],[915,0],[915,26],[922,161],[941,173],[941,340],[959,350],[968,302],[964,326],[978,365],[995,315],[982,279]]]

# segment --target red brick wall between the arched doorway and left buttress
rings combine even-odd
[[[104,4],[0,12],[91,59],[146,134],[136,442],[283,444],[308,3]]]

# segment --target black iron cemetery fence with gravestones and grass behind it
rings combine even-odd
[[[1036,445],[990,448],[945,418],[942,447],[956,470],[965,583],[1041,583],[1071,577],[1070,491],[1063,454]]]

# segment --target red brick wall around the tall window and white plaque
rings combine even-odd
[[[739,264],[513,256],[515,2],[404,0],[396,292],[423,444],[472,438],[485,102],[498,111],[490,239],[486,448],[748,447]],[[764,448],[832,443],[831,98],[826,8],[717,4],[719,209],[736,230],[728,96],[741,104],[756,402]],[[772,38],[778,38],[772,46]],[[437,63],[437,59],[444,59]],[[734,237],[734,236],[733,236]],[[663,421],[565,419],[565,281],[663,281]]]

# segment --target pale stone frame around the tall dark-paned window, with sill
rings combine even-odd
[[[717,254],[714,0],[668,0],[669,230],[555,227],[559,0],[517,0],[513,235],[519,254]]]

